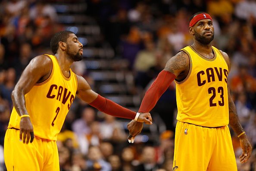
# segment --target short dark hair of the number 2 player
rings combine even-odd
[[[69,38],[69,34],[75,34],[72,31],[60,31],[53,35],[50,46],[52,49],[53,54],[57,53],[57,50],[59,48],[59,42],[67,42],[67,39]]]

